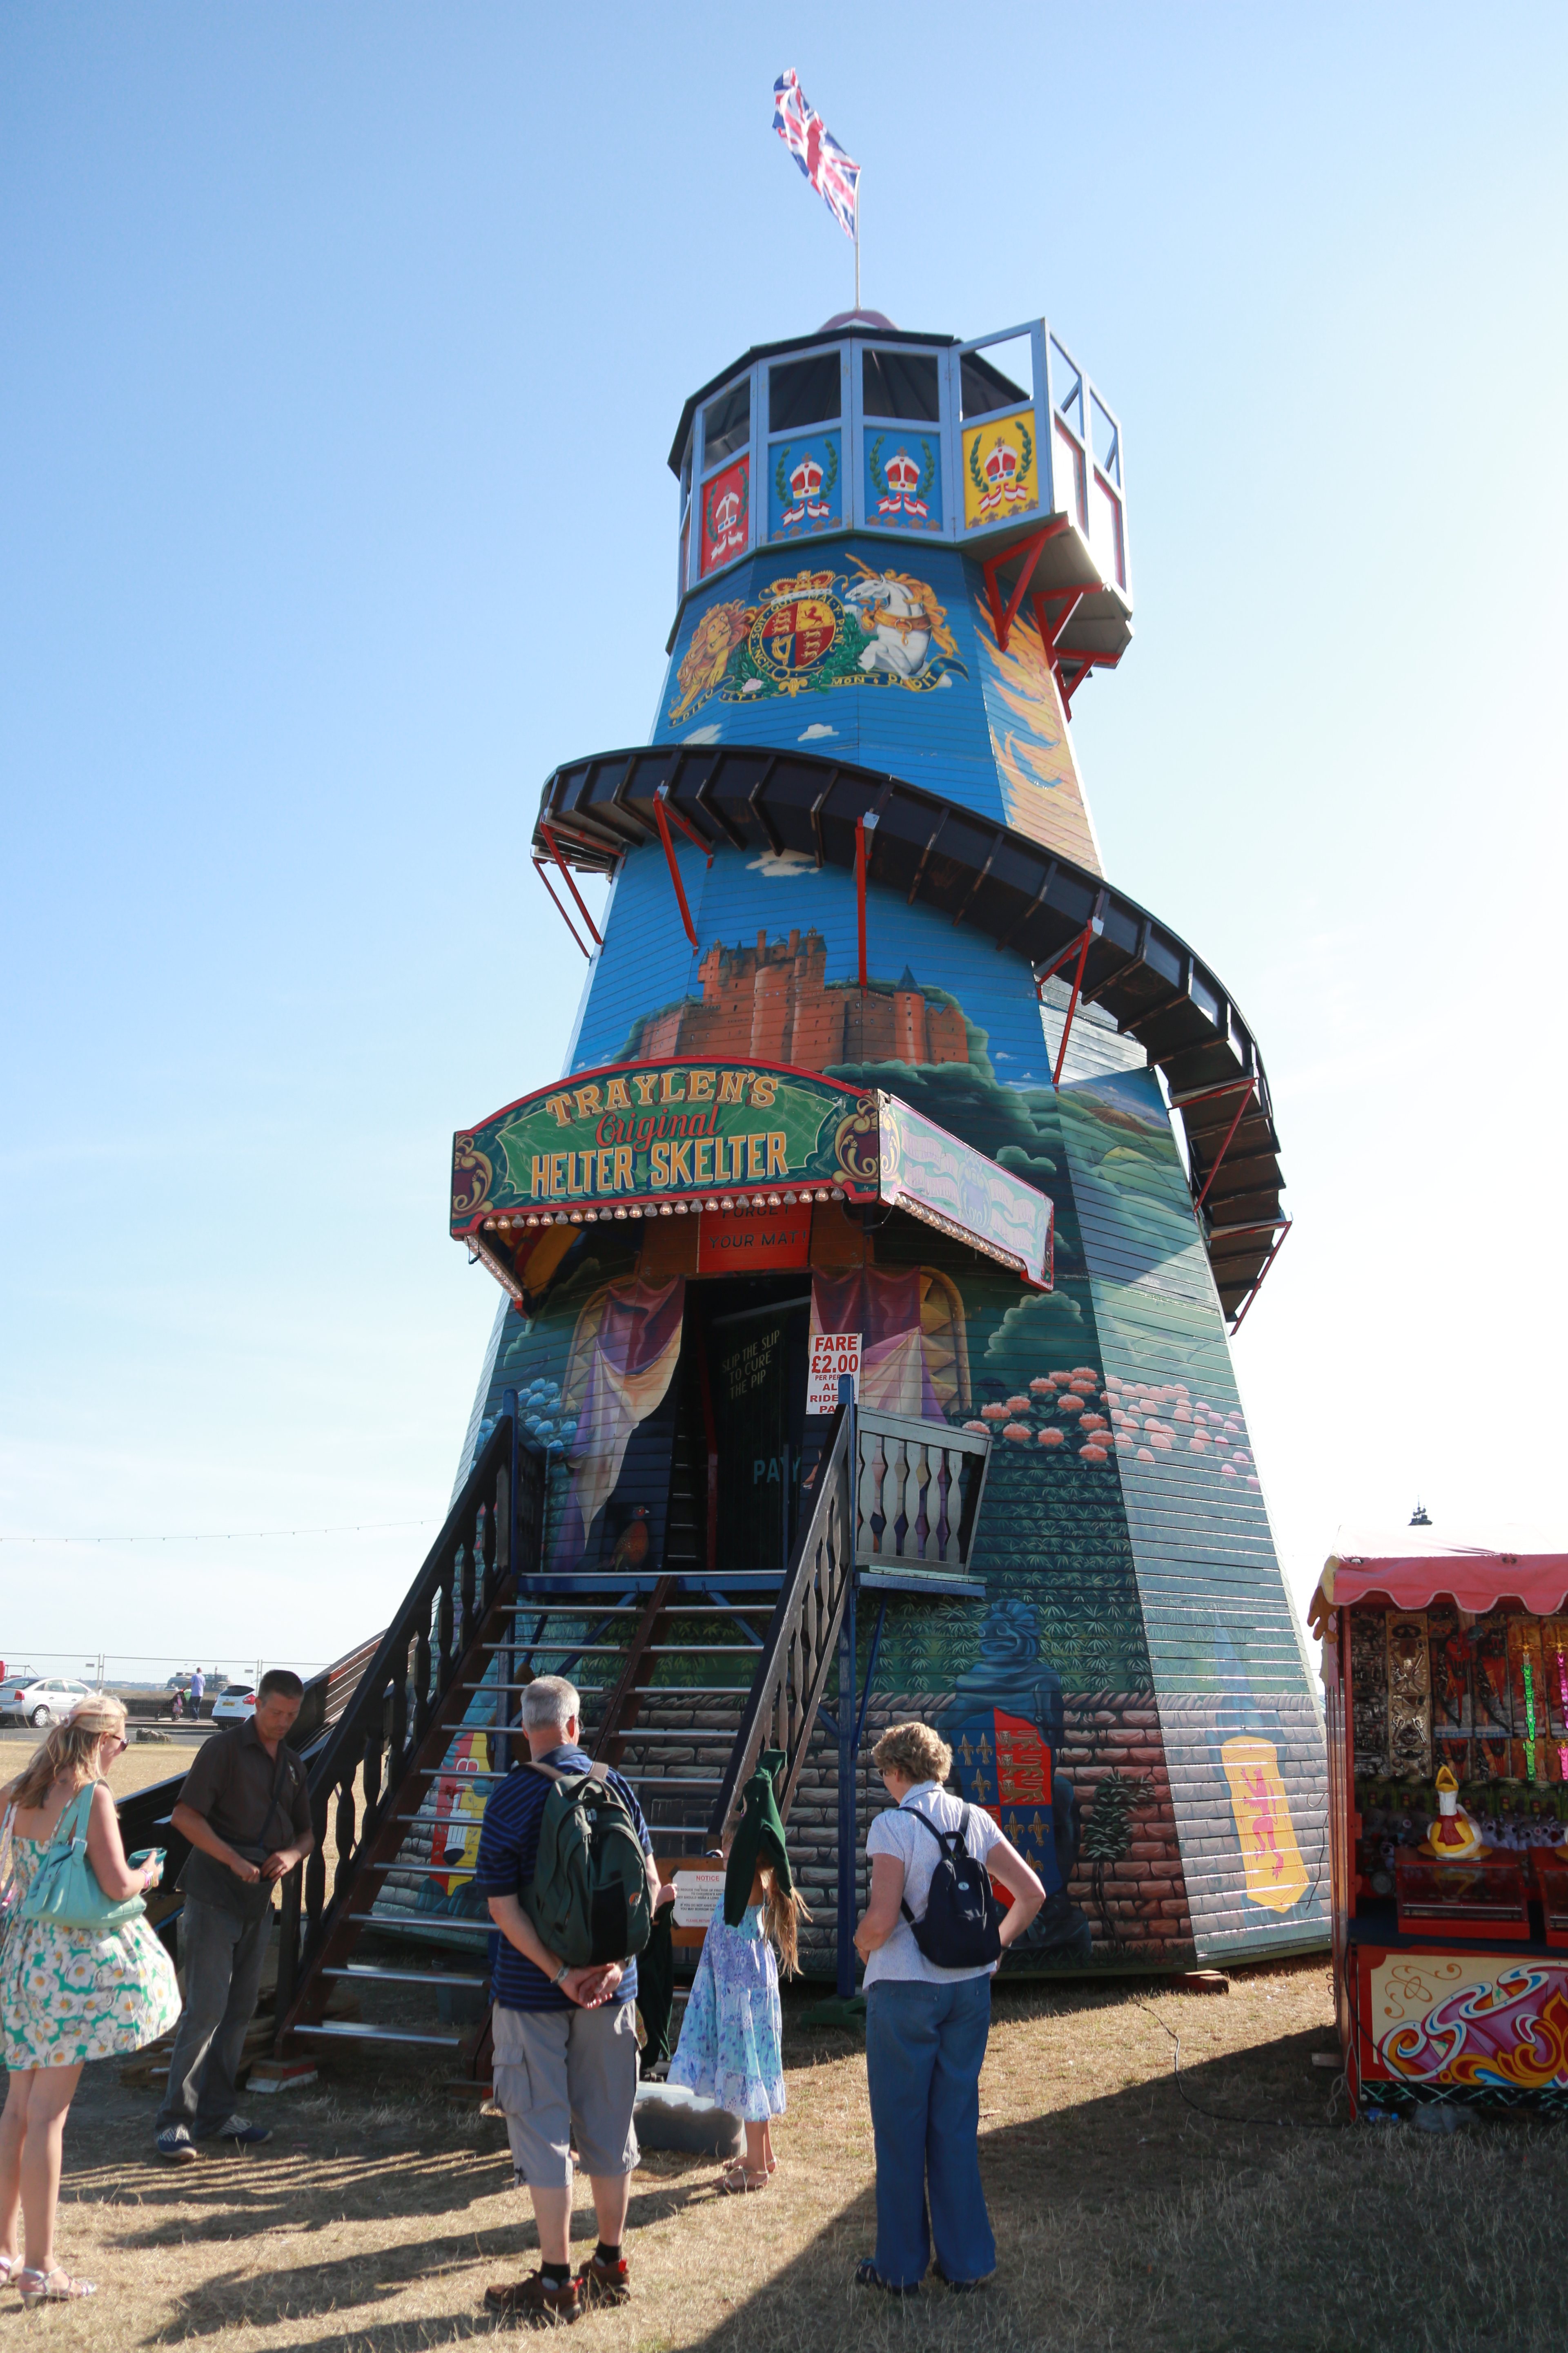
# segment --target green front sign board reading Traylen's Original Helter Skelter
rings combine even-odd
[[[875,1200],[877,1099],[778,1064],[621,1064],[458,1134],[451,1231],[708,1195]],[[762,1205],[762,1202],[757,1202]],[[778,1202],[766,1202],[776,1207]]]

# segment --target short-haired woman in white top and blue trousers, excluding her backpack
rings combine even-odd
[[[877,2252],[858,2266],[856,2280],[907,2297],[926,2275],[933,2240],[947,2287],[976,2287],[997,2268],[978,2148],[980,2061],[997,1962],[938,1969],[917,1946],[903,1904],[914,1920],[924,1918],[943,1847],[910,1814],[924,1814],[938,1831],[961,1828],[969,1854],[1006,1887],[1013,1901],[1001,1920],[1004,1948],[1023,1937],[1046,1889],[990,1814],[947,1795],[952,1748],[929,1725],[889,1725],[872,1762],[893,1805],[877,1814],[865,1838],[872,1892],[856,1929],[877,2137]]]

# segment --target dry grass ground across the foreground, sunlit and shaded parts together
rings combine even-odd
[[[632,2188],[635,2304],[576,2353],[1544,2353],[1568,2341],[1556,2127],[1331,2125],[1321,1965],[1239,1974],[1229,1998],[1145,1988],[1004,1993],[980,2087],[999,2275],[983,2297],[856,2292],[872,2245],[865,2057],[797,2024],[780,2172],[717,2198],[715,2169],[649,2155]],[[1171,2082],[1168,2024],[1192,2097]],[[92,2068],[66,2134],[61,2249],[92,2306],[7,2325],[16,2346],[346,2353],[487,2337],[482,2287],[538,2261],[498,2122],[407,2064],[254,2104],[254,2158],[150,2162],[153,2101]],[[1342,2111],[1340,2111],[1342,2113]],[[592,2214],[581,2191],[583,2252]],[[14,2306],[12,2306],[14,2311]]]

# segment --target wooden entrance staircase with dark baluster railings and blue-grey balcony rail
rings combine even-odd
[[[353,1704],[310,1762],[317,1847],[303,1887],[301,1873],[284,1887],[277,2054],[329,2042],[416,2045],[489,2071],[487,2028],[465,2035],[444,2021],[355,2021],[329,2017],[327,2005],[346,1981],[487,1998],[484,1906],[475,1899],[468,1920],[437,1918],[418,1908],[418,1887],[451,1885],[473,1868],[473,1852],[435,1859],[435,1788],[451,1786],[451,1751],[465,1732],[487,1734],[491,1769],[463,1769],[461,1786],[480,1795],[505,1777],[520,1744],[517,1699],[534,1675],[578,1685],[583,1746],[632,1784],[656,1857],[677,1861],[719,1842],[764,1746],[783,1751],[778,1800],[788,1817],[837,1666],[849,1699],[827,1722],[839,1739],[839,1847],[846,1838],[851,1854],[839,1882],[853,1892],[853,1748],[865,1722],[853,1697],[856,1551],[870,1586],[978,1593],[964,1565],[985,1445],[945,1426],[856,1414],[846,1402],[827,1428],[783,1577],[717,1574],[684,1558],[684,1546],[658,1577],[559,1574],[543,1565],[545,1459],[520,1438],[508,1393]],[[929,1508],[938,1497],[940,1508]],[[357,1958],[367,1937],[400,1929],[468,1937],[475,1965]]]

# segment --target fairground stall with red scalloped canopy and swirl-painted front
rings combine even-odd
[[[1352,2108],[1568,2106],[1568,1553],[1420,1544],[1312,1598]]]

